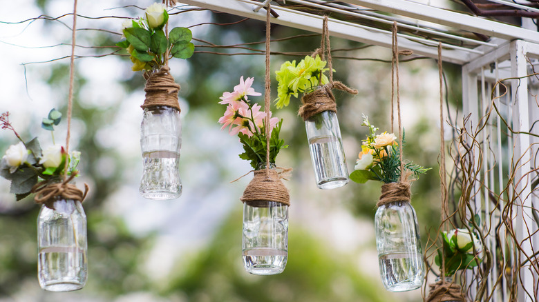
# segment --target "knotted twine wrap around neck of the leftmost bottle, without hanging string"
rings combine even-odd
[[[71,174],[71,176],[62,183],[50,183],[49,181],[41,181],[34,185],[30,192],[35,193],[34,201],[38,204],[43,204],[51,210],[55,210],[54,203],[59,198],[73,199],[76,201],[84,201],[86,194],[88,194],[88,185],[84,183],[84,193],[77,188],[76,185],[69,182],[77,175],[77,173]]]

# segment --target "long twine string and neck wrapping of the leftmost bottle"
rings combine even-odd
[[[73,3],[73,28],[71,30],[71,57],[70,57],[70,72],[69,72],[69,92],[68,92],[68,112],[67,112],[67,134],[66,134],[66,154],[69,154],[69,141],[71,137],[71,115],[73,113],[73,86],[75,78],[75,32],[77,30],[77,0]],[[69,155],[67,155],[69,156]],[[73,199],[75,201],[84,201],[88,194],[88,185],[84,183],[84,193],[77,188],[76,185],[69,182],[77,176],[77,172],[73,172],[68,177],[68,162],[64,165],[64,181],[60,183],[50,183],[50,181],[41,181],[32,187],[30,192],[35,193],[35,203],[45,205],[47,208],[54,210],[54,203],[59,199]]]

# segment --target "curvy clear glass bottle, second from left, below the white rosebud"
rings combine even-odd
[[[144,170],[140,194],[146,199],[176,199],[182,194],[180,112],[168,106],[144,109],[140,125],[140,149]]]

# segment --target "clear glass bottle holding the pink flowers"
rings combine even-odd
[[[265,164],[257,170],[263,169]],[[243,203],[242,254],[245,270],[251,274],[280,274],[285,270],[288,205],[264,200]]]

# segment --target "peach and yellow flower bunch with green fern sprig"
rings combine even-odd
[[[399,143],[395,134],[388,132],[376,134],[378,128],[371,125],[365,115],[363,115],[361,125],[368,127],[369,134],[366,139],[363,139],[359,159],[357,159],[354,172],[350,173],[350,179],[357,183],[366,183],[369,180],[383,183],[399,181],[401,162]],[[431,170],[415,163],[404,164],[404,169],[412,172],[415,177]]]

